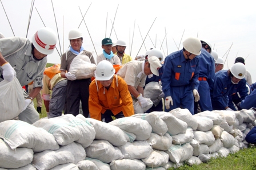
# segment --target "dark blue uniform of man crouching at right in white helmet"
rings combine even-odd
[[[210,89],[213,110],[225,110],[225,107],[229,106],[229,97],[237,93],[238,89],[242,96],[247,93],[245,78],[238,84],[233,84],[227,70],[215,73],[214,84]]]

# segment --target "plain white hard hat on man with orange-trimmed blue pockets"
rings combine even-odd
[[[193,53],[194,55],[200,55],[201,54],[201,48],[202,44],[198,38],[187,38],[183,42],[183,48],[186,49],[186,51]]]

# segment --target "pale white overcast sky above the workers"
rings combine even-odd
[[[1,0],[0,32],[6,38],[15,35],[31,39],[39,28],[52,28],[58,36],[58,51],[47,56],[48,63],[61,63],[60,56],[69,48],[68,34],[73,28],[81,30],[82,45],[93,52],[95,59],[102,53],[104,38],[124,40],[125,53],[134,59],[150,48],[161,48],[167,56],[182,49],[186,38],[197,37],[211,42],[225,60],[224,69],[229,69],[236,57],[246,59],[246,69],[256,82],[253,4],[252,0]]]

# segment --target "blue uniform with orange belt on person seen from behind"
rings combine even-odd
[[[213,56],[205,50],[201,49],[201,55],[199,57],[199,87],[198,94],[200,100],[198,101],[201,111],[212,111],[211,106],[211,96],[210,96],[210,86],[213,84],[213,77],[215,75],[215,64]],[[197,113],[197,102],[194,105],[194,114]]]

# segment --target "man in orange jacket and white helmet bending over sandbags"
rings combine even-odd
[[[115,75],[113,65],[102,60],[96,68],[95,80],[89,86],[90,117],[105,122],[112,117],[122,118],[134,114],[133,99],[123,78]]]

